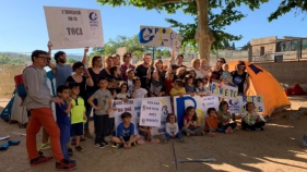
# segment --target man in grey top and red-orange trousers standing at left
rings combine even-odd
[[[63,100],[50,95],[47,86],[47,76],[44,67],[47,64],[47,52],[35,50],[32,52],[33,65],[23,72],[24,86],[27,91],[25,98],[26,108],[29,110],[31,119],[26,130],[26,149],[31,165],[48,162],[52,157],[40,156],[36,147],[36,134],[40,126],[50,136],[51,151],[57,160],[57,170],[70,170],[76,167],[74,161],[66,160],[60,147],[60,131],[55,122],[51,102],[63,103]]]

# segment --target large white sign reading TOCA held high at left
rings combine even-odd
[[[54,49],[103,47],[99,10],[44,7]]]

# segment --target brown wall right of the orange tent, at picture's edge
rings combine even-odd
[[[270,72],[280,83],[307,84],[307,61],[256,64]]]

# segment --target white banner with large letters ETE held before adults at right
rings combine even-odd
[[[238,97],[238,88],[237,87],[232,87],[228,85],[221,85],[217,83],[211,84],[211,95],[212,96],[217,96],[221,98],[226,98],[226,99],[237,99]]]

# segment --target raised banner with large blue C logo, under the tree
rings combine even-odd
[[[139,41],[142,46],[168,47],[179,52],[181,36],[169,27],[141,26]]]

